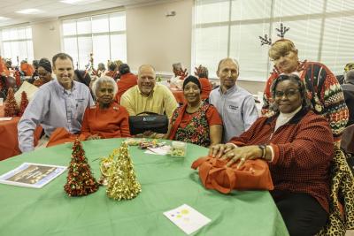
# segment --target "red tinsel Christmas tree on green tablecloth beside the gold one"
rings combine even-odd
[[[98,183],[92,175],[85,151],[81,142],[76,139],[73,142],[72,161],[64,190],[69,196],[83,196],[95,193],[97,189]]]

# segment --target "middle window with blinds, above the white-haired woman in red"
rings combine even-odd
[[[127,61],[125,12],[67,19],[62,27],[64,51],[75,67],[85,69],[91,53],[95,68],[107,60]]]

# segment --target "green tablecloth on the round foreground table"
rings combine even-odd
[[[108,156],[120,139],[84,141],[96,179],[97,157]],[[43,148],[0,162],[0,175],[24,162],[67,166],[71,144]],[[184,159],[144,154],[130,147],[142,193],[130,201],[113,201],[105,187],[95,194],[69,197],[64,192],[67,171],[42,189],[0,184],[0,235],[185,235],[163,212],[189,204],[212,219],[199,235],[289,235],[267,191],[219,194],[206,190],[193,160],[207,148],[188,145]]]

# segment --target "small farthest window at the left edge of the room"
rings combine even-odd
[[[4,58],[11,58],[13,65],[18,65],[22,60],[32,63],[34,50],[31,27],[5,28],[0,35]]]

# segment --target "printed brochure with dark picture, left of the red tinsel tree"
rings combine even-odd
[[[65,166],[24,163],[0,176],[0,183],[41,188],[66,170]]]

